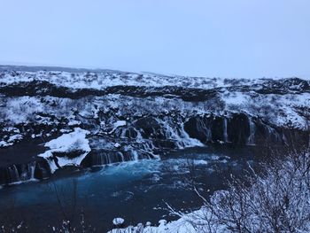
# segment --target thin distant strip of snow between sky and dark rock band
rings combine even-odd
[[[131,73],[68,73],[68,72],[19,72],[19,75],[5,73],[0,76],[0,82],[12,84],[16,82],[46,81],[58,86],[72,89],[105,89],[107,87],[128,86],[179,86],[186,88],[213,89],[229,87],[229,79],[205,78],[188,76],[167,76],[156,74]],[[252,85],[262,80],[240,79],[238,82]]]

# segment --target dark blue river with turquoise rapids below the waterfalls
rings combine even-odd
[[[12,215],[16,221],[27,222],[34,231],[46,229],[48,225],[59,226],[63,215],[58,198],[71,211],[74,179],[77,183],[75,221],[79,220],[81,209],[86,221],[103,231],[112,227],[114,217],[124,218],[127,225],[157,223],[161,218],[172,220],[174,217],[167,215],[165,202],[179,210],[197,209],[202,202],[190,190],[193,183],[207,196],[213,190],[223,189],[229,174],[242,175],[252,160],[251,147],[200,147],[175,151],[162,159],[93,167],[75,175],[59,173],[57,178],[45,182],[0,190],[0,217]]]

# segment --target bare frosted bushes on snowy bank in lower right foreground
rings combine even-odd
[[[228,190],[204,198],[204,206],[184,214],[168,206],[178,221],[159,221],[159,227],[113,229],[124,233],[309,232],[310,151],[291,152],[265,164],[260,174],[233,178]]]

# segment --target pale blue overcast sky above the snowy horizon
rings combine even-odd
[[[0,0],[0,64],[310,77],[309,0]]]

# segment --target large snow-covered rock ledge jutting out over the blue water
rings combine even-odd
[[[89,140],[86,138],[89,133],[88,130],[74,128],[74,132],[44,144],[50,150],[38,156],[48,161],[51,173],[65,166],[80,166],[82,159],[91,151]]]

